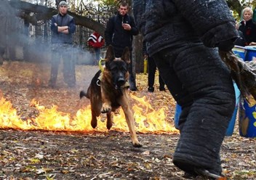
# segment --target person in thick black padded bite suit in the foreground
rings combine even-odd
[[[220,176],[220,146],[236,102],[218,54],[231,50],[238,36],[230,9],[224,0],[133,2],[148,54],[182,107],[173,163],[193,175]]]

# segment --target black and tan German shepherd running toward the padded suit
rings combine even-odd
[[[134,147],[142,145],[137,139],[135,132],[135,120],[132,109],[129,105],[129,48],[126,47],[121,58],[116,58],[113,52],[113,46],[108,46],[105,56],[105,68],[103,72],[99,70],[87,89],[87,93],[80,92],[80,98],[87,97],[91,102],[92,128],[97,126],[97,117],[100,113],[107,114],[107,128],[112,127],[113,115],[120,106],[124,110],[124,115],[129,127],[129,133]]]

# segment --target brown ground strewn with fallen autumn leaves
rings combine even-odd
[[[30,106],[33,98],[45,107],[57,105],[58,110],[75,115],[89,105],[88,99],[79,99],[79,91],[87,89],[97,69],[78,65],[75,88],[65,86],[59,75],[57,88],[49,89],[48,65],[4,62],[1,96],[12,102],[23,120],[38,115]],[[168,105],[167,120],[173,123],[175,102],[169,93],[148,93],[144,74],[137,75],[137,85],[139,91],[133,94],[148,97],[153,108]],[[138,133],[138,138],[141,148],[132,147],[129,134],[120,131],[83,134],[1,128],[0,179],[185,179],[172,163],[179,134]],[[228,179],[256,179],[255,142],[255,138],[239,136],[236,120],[233,135],[225,137],[221,150],[223,174]]]

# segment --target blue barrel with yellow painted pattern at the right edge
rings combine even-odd
[[[249,97],[241,99],[239,105],[239,134],[244,137],[256,136],[256,101]]]

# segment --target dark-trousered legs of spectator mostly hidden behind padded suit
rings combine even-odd
[[[156,62],[153,60],[152,57],[148,57],[148,52],[145,48],[145,42],[143,42],[143,56],[144,58],[148,59],[148,91],[153,92],[155,88],[153,87],[153,84],[155,83],[155,74],[156,74]],[[159,90],[165,91],[164,88],[164,81],[161,78],[161,75],[159,73]]]

